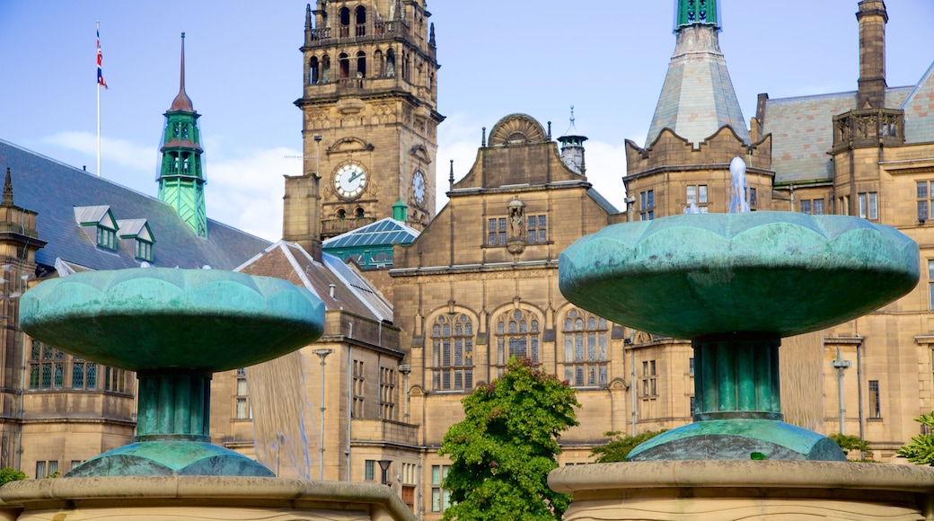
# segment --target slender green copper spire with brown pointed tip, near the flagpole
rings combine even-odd
[[[185,92],[185,33],[181,34],[181,86],[164,114],[163,161],[159,168],[159,199],[171,204],[198,235],[207,236],[205,172],[201,131],[191,98]]]

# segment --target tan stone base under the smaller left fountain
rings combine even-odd
[[[66,477],[0,488],[2,521],[415,521],[388,486],[263,477]]]

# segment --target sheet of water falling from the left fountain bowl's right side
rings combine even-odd
[[[279,477],[310,479],[306,433],[314,432],[314,420],[305,394],[302,351],[248,367],[247,382],[257,460]]]

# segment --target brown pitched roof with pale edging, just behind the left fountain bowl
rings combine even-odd
[[[315,293],[329,311],[341,309],[377,322],[392,321],[392,306],[378,290],[342,260],[328,253],[322,258],[318,262],[301,246],[278,241],[234,271],[288,280]]]

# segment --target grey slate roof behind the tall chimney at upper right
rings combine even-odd
[[[885,106],[901,106],[912,89],[889,89],[885,93]],[[772,134],[771,169],[775,171],[775,183],[832,178],[833,164],[828,151],[833,147],[833,117],[854,108],[856,91],[767,100],[762,134]],[[931,125],[930,120],[927,125]]]

